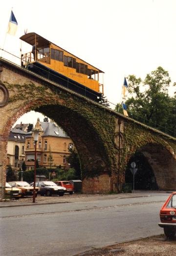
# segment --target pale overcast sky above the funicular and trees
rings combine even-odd
[[[4,44],[11,7],[18,30]],[[176,82],[176,0],[3,1],[0,46],[20,57],[24,28],[103,70],[105,95],[114,104],[124,76],[144,79],[162,66]]]

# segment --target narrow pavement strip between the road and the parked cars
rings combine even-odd
[[[29,205],[42,205],[54,203],[69,203],[76,201],[91,201],[91,200],[105,200],[105,199],[123,199],[123,198],[136,198],[136,197],[150,197],[154,193],[172,193],[171,191],[134,191],[134,193],[119,193],[119,194],[65,194],[64,197],[52,196],[36,198],[36,203],[32,202],[32,197],[21,199],[6,199],[0,201],[0,208],[2,207],[16,207],[16,206],[29,206]]]

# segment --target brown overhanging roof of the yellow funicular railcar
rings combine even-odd
[[[36,41],[40,44],[40,46],[44,46],[44,45],[46,45],[46,44],[53,44],[53,45],[55,45],[55,46],[61,48],[60,46],[58,46],[58,45],[56,45],[56,44],[54,44],[54,43],[48,41],[47,39],[45,39],[44,37],[42,37],[42,36],[36,34],[35,32],[27,33],[27,34],[24,34],[24,35],[22,35],[22,36],[20,37],[20,39],[21,39],[22,41],[24,41],[24,42],[26,42],[26,43],[28,43],[28,44],[30,44],[30,45],[34,45],[34,44],[35,44],[35,38],[36,38]],[[63,51],[65,51],[65,52],[67,52],[68,54],[71,54],[71,53],[69,53],[68,51],[66,51],[65,49],[63,49],[63,48],[61,48],[61,49],[62,49]],[[73,54],[71,54],[71,55],[73,55]],[[75,55],[73,55],[73,56],[76,57]],[[76,57],[76,58],[79,58],[79,57]],[[79,58],[79,59],[82,60],[82,61],[84,61],[84,62],[86,62],[85,60],[83,60],[83,59],[81,59],[81,58]],[[88,62],[86,62],[86,63],[87,63],[88,65],[92,66],[92,65],[89,64]],[[92,67],[94,67],[94,66],[92,66]],[[94,68],[96,68],[96,67],[94,67]],[[99,68],[96,68],[96,69],[98,69],[98,71],[99,71],[100,73],[105,73],[105,72],[103,72],[102,70],[100,70]]]

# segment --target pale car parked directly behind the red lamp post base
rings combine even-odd
[[[20,188],[22,190],[22,197],[33,195],[34,187],[29,185],[29,183],[27,183],[26,181],[10,181],[9,184],[13,188]],[[35,197],[37,197],[37,192],[38,192],[39,188],[36,187],[35,190],[36,190]]]

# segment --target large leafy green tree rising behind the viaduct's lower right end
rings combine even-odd
[[[128,92],[131,97],[125,104],[129,116],[152,126],[156,123],[165,127],[172,105],[172,99],[168,94],[168,86],[171,82],[168,71],[158,67],[151,74],[147,74],[143,82],[134,75],[128,77],[128,82]]]

